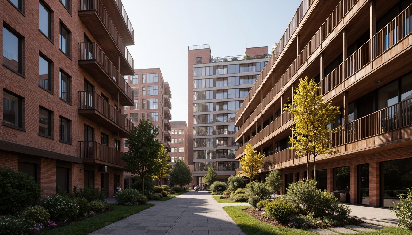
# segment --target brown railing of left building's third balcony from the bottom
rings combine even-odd
[[[126,83],[122,74],[116,69],[109,58],[104,54],[103,50],[96,44],[96,42],[79,42],[80,58],[79,60],[95,60],[108,76],[115,81],[118,88],[124,92],[130,100],[133,100],[133,90]]]

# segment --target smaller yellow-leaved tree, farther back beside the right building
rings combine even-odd
[[[262,163],[265,160],[265,154],[262,154],[252,148],[252,144],[246,144],[245,149],[246,154],[239,159],[239,163],[242,165],[242,170],[240,174],[246,175],[252,182],[252,179],[258,175],[260,168],[262,168]]]

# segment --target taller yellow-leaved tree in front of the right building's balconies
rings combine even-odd
[[[309,81],[308,77],[299,79],[295,89],[292,104],[286,104],[285,110],[293,113],[295,127],[292,128],[293,136],[289,143],[296,155],[306,154],[309,172],[309,157],[313,159],[314,179],[316,179],[316,156],[320,154],[334,154],[332,140],[329,135],[336,130],[329,130],[328,124],[335,122],[336,115],[340,114],[339,107],[332,106],[332,101],[325,103],[322,95],[316,95],[321,87],[316,86],[315,79]]]

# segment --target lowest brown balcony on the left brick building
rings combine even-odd
[[[79,141],[80,158],[83,163],[91,165],[107,165],[118,170],[124,170],[126,163],[122,160],[124,153],[112,149],[96,141]]]

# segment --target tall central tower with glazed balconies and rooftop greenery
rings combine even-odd
[[[204,183],[209,166],[227,182],[239,163],[234,159],[235,114],[269,60],[267,47],[246,48],[242,56],[213,58],[208,44],[188,47],[187,163],[191,185]]]

